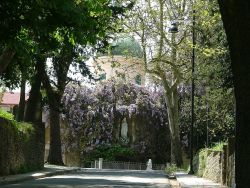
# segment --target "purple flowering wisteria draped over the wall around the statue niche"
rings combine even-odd
[[[167,112],[160,90],[115,80],[102,82],[96,87],[70,85],[62,98],[65,121],[64,149],[90,152],[100,145],[114,143],[114,125],[118,118],[151,118],[150,126],[157,122],[164,126]]]

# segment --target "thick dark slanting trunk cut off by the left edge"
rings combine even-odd
[[[10,47],[6,47],[0,56],[0,75],[5,71],[14,55],[16,54],[15,50]]]

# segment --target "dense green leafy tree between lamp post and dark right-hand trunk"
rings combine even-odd
[[[195,122],[194,148],[234,136],[234,96],[230,57],[217,1],[195,1]],[[190,90],[179,88],[181,136],[190,125]],[[207,137],[208,136],[208,137]],[[188,149],[188,148],[186,148]]]

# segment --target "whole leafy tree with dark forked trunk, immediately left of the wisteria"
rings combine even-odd
[[[112,2],[115,3],[115,2]],[[68,3],[74,8],[75,23],[72,27],[58,27],[48,38],[54,43],[53,48],[44,48],[44,56],[52,59],[52,69],[43,62],[42,83],[48,96],[50,108],[50,152],[48,162],[62,164],[60,138],[61,98],[66,85],[72,80],[68,77],[70,65],[79,66],[82,74],[90,75],[84,56],[87,48],[105,46],[107,33],[114,31],[117,15],[122,16],[130,4],[112,4],[109,1],[79,1]],[[119,2],[116,2],[119,3]],[[127,2],[128,3],[128,2]],[[115,5],[115,6],[114,6]],[[46,46],[42,41],[43,47]],[[53,46],[52,46],[53,47]],[[52,74],[50,74],[52,73]]]

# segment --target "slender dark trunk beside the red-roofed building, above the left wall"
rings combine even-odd
[[[22,80],[21,80],[20,101],[19,101],[19,106],[18,106],[17,121],[24,120],[24,110],[25,110],[26,79],[24,78],[24,75],[22,75],[21,79]]]

